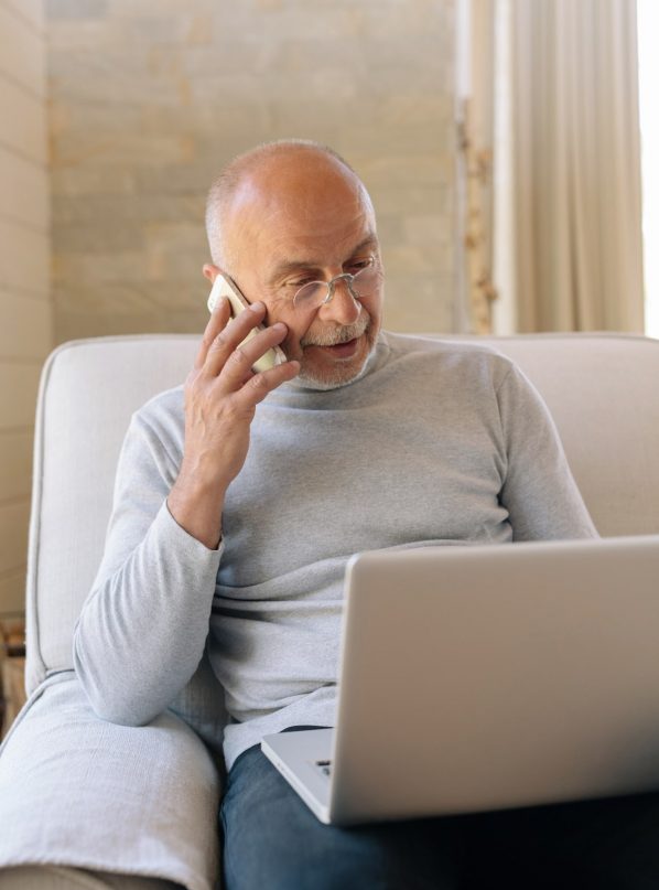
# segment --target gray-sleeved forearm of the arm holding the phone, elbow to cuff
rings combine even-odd
[[[219,551],[191,537],[166,504],[145,538],[85,603],[74,664],[104,719],[143,725],[194,674],[208,633]]]

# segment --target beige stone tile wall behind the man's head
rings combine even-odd
[[[46,0],[55,339],[198,331],[206,190],[267,139],[371,191],[386,323],[451,330],[453,0]]]

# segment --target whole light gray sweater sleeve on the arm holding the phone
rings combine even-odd
[[[94,710],[130,726],[152,720],[193,676],[222,554],[169,512],[179,462],[168,444],[133,417],[104,558],[74,631],[74,666]]]

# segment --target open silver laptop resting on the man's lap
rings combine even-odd
[[[336,728],[261,747],[325,823],[659,789],[659,536],[353,557]]]

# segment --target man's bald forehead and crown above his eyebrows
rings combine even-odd
[[[246,176],[225,230],[241,265],[341,262],[375,236],[375,216],[356,175],[337,163],[306,158]]]

